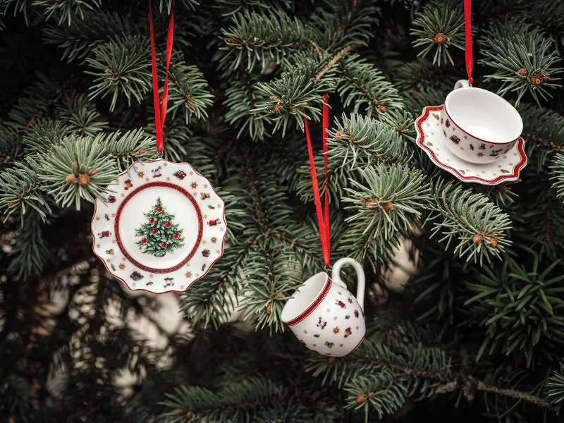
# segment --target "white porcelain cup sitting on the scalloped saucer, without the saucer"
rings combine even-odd
[[[513,148],[523,122],[505,99],[460,80],[446,97],[441,127],[453,154],[472,163],[491,163]]]

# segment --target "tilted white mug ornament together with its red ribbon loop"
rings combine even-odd
[[[329,105],[327,94],[323,104],[323,150],[325,176],[325,204],[321,209],[321,197],[317,184],[317,172],[309,137],[307,117],[304,117],[305,138],[309,156],[309,173],[312,177],[315,211],[321,250],[326,268],[331,264],[331,238],[329,228],[329,192],[327,189],[327,129]],[[353,266],[357,272],[357,296],[351,294],[341,279],[344,265]],[[331,277],[326,272],[315,274],[291,295],[282,309],[281,319],[298,337],[300,342],[316,353],[343,357],[352,353],[362,343],[366,334],[364,322],[364,270],[355,259],[345,257],[333,266]]]

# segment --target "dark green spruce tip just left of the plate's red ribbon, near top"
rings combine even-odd
[[[119,94],[125,95],[128,105],[131,97],[141,102],[151,87],[149,40],[141,36],[123,37],[100,44],[93,54],[94,58],[86,61],[98,72],[86,72],[96,77],[88,97],[111,95],[110,111],[116,107]]]

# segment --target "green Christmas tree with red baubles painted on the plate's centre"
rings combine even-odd
[[[142,237],[135,242],[142,247],[142,252],[164,257],[167,252],[184,246],[183,229],[178,227],[178,223],[173,223],[174,215],[166,212],[160,197],[152,210],[145,213],[145,217],[147,223],[135,230],[135,235]]]

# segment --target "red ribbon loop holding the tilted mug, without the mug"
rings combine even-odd
[[[307,154],[309,155],[309,173],[312,175],[313,197],[315,203],[315,212],[317,213],[317,226],[319,227],[319,238],[321,238],[321,250],[323,250],[323,259],[326,266],[331,264],[331,238],[329,230],[329,185],[327,185],[327,151],[329,150],[327,142],[327,129],[329,129],[329,103],[327,102],[327,94],[323,96],[323,158],[325,173],[325,207],[324,212],[321,211],[321,196],[319,195],[319,185],[317,185],[317,172],[315,171],[315,161],[313,157],[312,140],[309,137],[309,127],[307,126],[307,118],[304,116],[305,123],[305,139],[307,140]],[[324,217],[325,216],[325,217]]]

